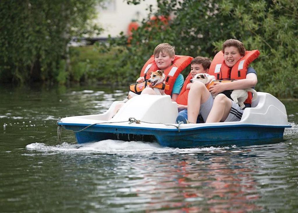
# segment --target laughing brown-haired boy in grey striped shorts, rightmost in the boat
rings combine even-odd
[[[222,52],[224,53],[224,63],[232,68],[245,55],[245,48],[242,42],[228,39],[223,44]],[[182,122],[196,123],[199,113],[206,123],[240,121],[243,109],[240,109],[238,104],[221,92],[246,89],[254,87],[256,84],[257,74],[252,67],[247,69],[245,78],[224,84],[215,82],[209,87],[209,91],[203,83],[193,83],[188,94],[188,121],[184,119]],[[212,95],[216,95],[216,97],[213,99]]]

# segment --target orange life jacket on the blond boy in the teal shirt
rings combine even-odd
[[[164,89],[164,93],[167,95],[172,95],[173,86],[175,84],[176,78],[180,74],[182,70],[184,70],[190,62],[193,60],[193,57],[186,55],[175,55],[173,64],[164,70],[165,84],[169,85],[169,88]],[[155,72],[156,70],[160,70],[155,61],[154,55],[152,55],[149,60],[144,64],[140,77],[144,77],[145,80],[150,78],[150,73]]]

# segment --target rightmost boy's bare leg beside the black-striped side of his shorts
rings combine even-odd
[[[232,101],[224,94],[218,94],[214,98],[212,109],[206,123],[225,121],[232,107]]]

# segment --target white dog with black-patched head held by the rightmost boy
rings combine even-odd
[[[207,73],[198,73],[195,75],[193,79],[190,80],[190,83],[193,83],[195,81],[201,81],[207,89],[209,89],[209,86],[211,86],[216,79],[214,75],[209,75]],[[252,88],[247,89],[234,89],[231,93],[232,100],[240,106],[240,109],[243,109],[245,107],[244,101],[247,99],[248,94],[247,92],[252,92],[253,98],[252,101],[256,100],[258,97],[257,91]],[[215,95],[216,96],[216,95]],[[215,98],[213,96],[213,98]]]

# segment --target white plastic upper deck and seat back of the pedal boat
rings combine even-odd
[[[103,114],[73,116],[62,118],[61,121],[65,124],[104,123],[105,125],[113,126],[154,129],[176,129],[173,125],[178,126],[178,124],[175,124],[178,115],[177,104],[171,101],[169,95],[138,95],[127,101],[116,115],[114,115],[116,105],[121,102],[113,102],[111,107]],[[129,124],[129,118],[140,120],[141,124]],[[165,124],[173,125],[168,126]],[[252,102],[251,108],[244,110],[240,121],[211,124],[181,124],[179,128],[193,129],[205,126],[229,125],[288,126],[287,112],[283,103],[273,95],[266,92],[258,92],[257,100]]]

